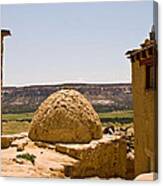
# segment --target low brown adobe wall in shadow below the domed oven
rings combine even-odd
[[[56,150],[79,160],[75,165],[65,166],[65,175],[68,177],[131,178],[127,174],[126,142],[123,139],[102,139],[95,146],[90,144],[83,148],[58,144]]]

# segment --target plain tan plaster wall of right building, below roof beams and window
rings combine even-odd
[[[155,90],[146,89],[146,68],[132,63],[135,129],[135,174],[156,170],[155,165]]]

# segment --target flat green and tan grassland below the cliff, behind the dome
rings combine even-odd
[[[2,133],[16,134],[21,132],[28,132],[30,121],[34,113],[21,114],[2,114]],[[127,125],[133,121],[133,111],[114,111],[99,113],[103,126],[113,125]]]

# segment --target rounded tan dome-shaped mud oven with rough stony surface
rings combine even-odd
[[[41,104],[28,136],[33,141],[88,143],[102,137],[102,124],[81,93],[66,89],[51,94]]]

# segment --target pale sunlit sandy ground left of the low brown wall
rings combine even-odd
[[[71,165],[77,160],[55,151],[54,145],[38,147],[30,141],[22,151],[18,151],[22,140],[16,140],[13,146],[1,150],[1,174],[13,177],[46,177],[65,178],[64,166]],[[28,140],[28,139],[26,139]],[[35,155],[34,164],[17,155],[29,153]]]

